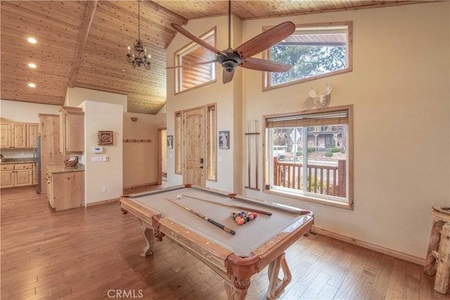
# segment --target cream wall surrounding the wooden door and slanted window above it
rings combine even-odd
[[[200,36],[217,26],[217,43],[219,49],[228,48],[228,16],[217,18],[204,18],[188,22],[184,28],[193,34]],[[233,17],[233,30],[240,32],[241,21]],[[240,33],[233,36],[232,41],[240,39]],[[172,43],[167,47],[167,62],[174,61],[173,53],[178,51],[191,41],[181,34],[176,34]],[[174,71],[167,71],[167,135],[174,135],[174,112],[187,110],[209,103],[217,103],[217,131],[230,131],[231,147],[229,150],[217,149],[217,182],[206,181],[208,188],[219,190],[236,190],[242,185],[240,165],[236,165],[235,158],[240,157],[242,148],[236,147],[236,137],[242,134],[240,125],[240,114],[242,111],[241,95],[241,70],[238,68],[234,74],[234,79],[228,84],[222,84],[222,69],[217,65],[217,81],[207,84],[199,89],[186,91],[174,95]],[[235,81],[236,80],[236,81]],[[236,98],[236,95],[238,98]],[[237,117],[237,118],[236,118]],[[238,169],[236,169],[238,168]],[[174,149],[167,150],[167,185],[179,185],[183,183],[183,178],[174,174]]]

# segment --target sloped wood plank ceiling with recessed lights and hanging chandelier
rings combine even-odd
[[[249,20],[418,2],[236,0],[231,6]],[[155,114],[166,102],[165,49],[176,34],[170,23],[226,15],[228,1],[141,1],[140,35],[151,70],[126,61],[138,37],[137,1],[1,1],[0,10],[2,100],[63,105],[68,87],[77,86],[127,95],[128,112]]]

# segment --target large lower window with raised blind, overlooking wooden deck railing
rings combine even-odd
[[[352,209],[352,109],[264,117],[265,191]]]

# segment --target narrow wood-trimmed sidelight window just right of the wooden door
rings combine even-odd
[[[207,107],[207,180],[217,181],[217,119],[216,105]]]

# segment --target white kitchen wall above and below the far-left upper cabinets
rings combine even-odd
[[[0,100],[1,122],[39,123],[39,114],[59,115],[59,105]],[[6,158],[33,157],[33,149],[1,149]]]

